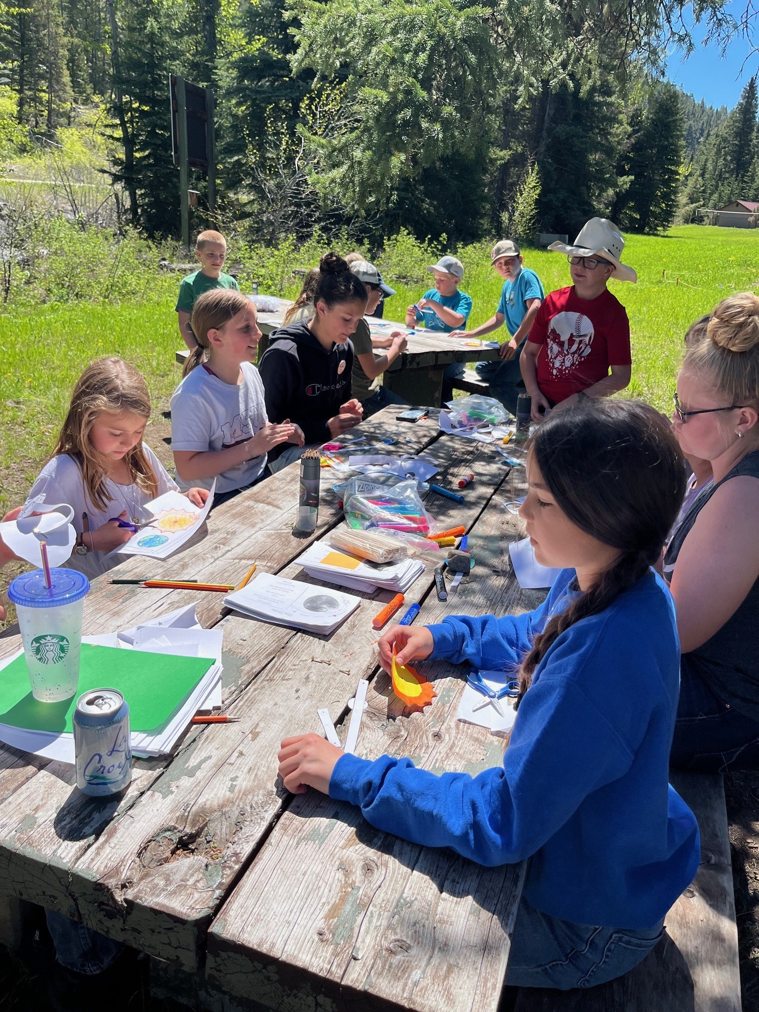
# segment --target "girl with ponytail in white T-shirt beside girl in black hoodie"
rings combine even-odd
[[[171,399],[171,446],[180,486],[210,486],[215,505],[264,477],[266,454],[282,442],[303,445],[303,432],[266,417],[264,391],[253,364],[261,331],[256,308],[239,291],[214,288],[191,317],[197,347]]]

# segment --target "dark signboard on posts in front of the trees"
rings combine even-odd
[[[174,164],[179,166],[179,208],[182,244],[189,248],[190,193],[189,170],[200,169],[208,180],[208,213],[212,222],[217,205],[216,131],[214,124],[214,90],[190,84],[176,74],[169,75],[171,106],[171,148]]]

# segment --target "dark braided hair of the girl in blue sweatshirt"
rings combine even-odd
[[[685,461],[669,421],[640,401],[593,400],[557,412],[529,451],[557,505],[619,555],[545,623],[522,659],[519,699],[558,637],[608,608],[658,561],[685,495]]]

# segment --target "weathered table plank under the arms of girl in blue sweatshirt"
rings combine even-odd
[[[542,599],[515,584],[508,541],[521,536],[521,524],[496,499],[470,535],[476,576],[446,604],[428,594],[418,622]],[[502,740],[455,722],[460,672],[442,662],[430,672],[438,697],[411,715],[388,676],[376,674],[358,754],[411,756],[435,771],[499,764]],[[213,985],[277,1010],[309,1007],[309,996],[339,1009],[495,1009],[522,875],[521,865],[484,868],[380,833],[358,810],[309,792],[293,800],[222,908],[206,973]]]

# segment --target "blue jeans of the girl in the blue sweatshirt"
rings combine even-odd
[[[522,897],[506,968],[517,988],[592,988],[642,962],[662,937],[664,920],[645,931],[561,921]]]

